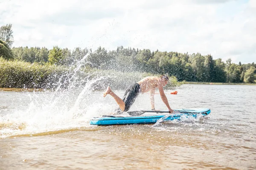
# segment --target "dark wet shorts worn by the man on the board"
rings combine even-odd
[[[126,89],[125,95],[122,99],[125,102],[125,110],[122,111],[120,108],[117,108],[115,112],[117,114],[122,114],[123,112],[128,111],[140,93],[141,93],[140,85],[138,83],[129,85],[129,87]]]

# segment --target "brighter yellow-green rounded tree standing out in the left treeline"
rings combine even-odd
[[[48,61],[51,64],[63,65],[63,63],[64,63],[64,56],[62,54],[62,49],[59,48],[58,46],[54,46],[49,51]]]

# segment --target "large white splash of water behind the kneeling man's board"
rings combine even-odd
[[[88,55],[60,78],[53,93],[24,94],[30,101],[28,107],[0,117],[0,137],[87,127],[93,116],[112,111],[113,106],[103,97],[93,94],[95,83],[106,77],[86,74],[81,69],[88,63]]]

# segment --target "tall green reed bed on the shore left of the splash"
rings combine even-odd
[[[54,88],[66,70],[55,65],[7,61],[0,57],[0,87]]]

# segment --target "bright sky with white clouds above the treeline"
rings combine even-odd
[[[256,62],[256,0],[0,0],[13,46],[125,48]]]

